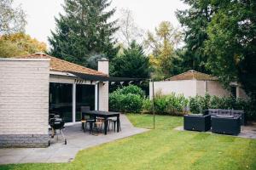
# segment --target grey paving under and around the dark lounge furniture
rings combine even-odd
[[[179,131],[185,131],[183,127],[175,127],[176,130]],[[196,132],[196,131],[188,131],[188,132]],[[212,133],[211,131],[207,132],[200,132],[200,133]],[[212,133],[212,134],[217,134],[217,133]],[[221,134],[225,135],[225,134]],[[249,126],[241,126],[241,133],[239,133],[237,136],[239,138],[247,138],[247,139],[256,139],[256,123],[254,122],[253,124]]]

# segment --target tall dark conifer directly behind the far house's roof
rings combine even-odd
[[[177,19],[185,28],[186,44],[184,53],[180,55],[185,71],[193,69],[211,73],[206,68],[208,56],[204,51],[204,42],[208,39],[207,26],[216,8],[211,8],[208,2],[183,0],[183,3],[189,4],[191,8],[177,11]]]

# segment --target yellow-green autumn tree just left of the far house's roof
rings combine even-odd
[[[148,31],[145,46],[149,48],[150,62],[154,67],[154,79],[164,79],[172,76],[174,61],[178,59],[176,48],[182,40],[182,32],[168,21],[160,23],[155,28],[155,34]]]

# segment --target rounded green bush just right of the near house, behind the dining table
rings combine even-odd
[[[109,110],[139,113],[143,109],[144,97],[143,90],[137,86],[130,85],[125,88],[118,88],[109,94]]]

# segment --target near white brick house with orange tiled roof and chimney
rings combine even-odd
[[[108,82],[98,81],[108,77],[108,59],[95,71],[41,53],[0,58],[0,77],[0,147],[47,146],[51,111],[71,123],[82,105],[108,111]]]

